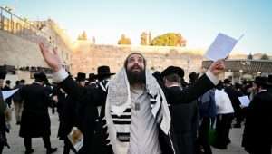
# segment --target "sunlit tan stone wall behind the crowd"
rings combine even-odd
[[[203,56],[201,51],[177,47],[151,46],[113,46],[113,45],[79,45],[72,54],[73,75],[77,72],[96,73],[100,65],[109,65],[112,72],[118,72],[125,58],[132,52],[140,52],[147,59],[147,67],[153,71],[162,71],[167,66],[182,67],[188,72],[200,72]]]

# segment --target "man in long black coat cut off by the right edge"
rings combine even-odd
[[[256,77],[257,94],[246,112],[242,146],[250,154],[271,154],[272,148],[272,94],[267,77]]]

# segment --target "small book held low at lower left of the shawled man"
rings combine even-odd
[[[77,152],[83,147],[83,133],[77,127],[73,127],[67,137]]]

